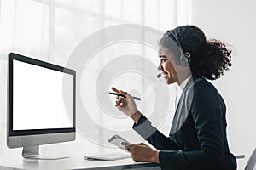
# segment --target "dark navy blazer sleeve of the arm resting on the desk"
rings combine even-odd
[[[215,89],[215,88],[214,88]],[[221,169],[224,161],[224,102],[208,85],[195,88],[190,112],[201,150],[160,150],[162,169]]]

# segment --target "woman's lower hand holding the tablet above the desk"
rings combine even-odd
[[[134,161],[159,163],[159,150],[153,150],[146,144],[131,144],[125,148]]]

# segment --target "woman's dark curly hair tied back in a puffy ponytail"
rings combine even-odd
[[[190,54],[189,66],[193,77],[216,80],[224,75],[224,71],[229,71],[232,65],[231,50],[226,47],[224,42],[216,39],[207,40],[204,32],[196,26],[178,26],[174,30],[177,37],[173,35],[173,30],[167,31],[165,35],[176,44],[179,43],[183,53]],[[168,48],[170,42],[162,37],[160,45]]]

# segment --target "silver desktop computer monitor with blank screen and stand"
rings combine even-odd
[[[10,53],[8,86],[9,148],[23,147],[25,158],[51,159],[39,156],[39,145],[75,139],[75,71]]]

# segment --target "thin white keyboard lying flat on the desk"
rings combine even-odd
[[[98,161],[114,161],[119,159],[125,159],[131,157],[130,154],[126,153],[108,153],[108,154],[98,154],[91,156],[84,156],[84,160],[98,160]]]

